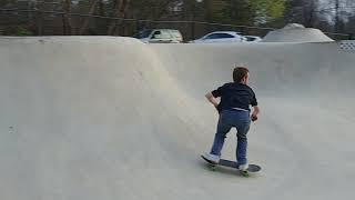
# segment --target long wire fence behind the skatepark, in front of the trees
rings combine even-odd
[[[65,18],[70,19],[70,27],[65,24]],[[88,21],[88,26],[84,31],[81,31],[84,21]],[[192,40],[216,30],[234,30],[242,34],[261,37],[274,30],[274,28],[209,23],[203,21],[154,21],[61,11],[0,9],[0,34],[18,34],[19,28],[28,30],[29,34],[34,36],[133,36],[141,29],[169,28],[180,30],[185,40]],[[112,29],[109,30],[110,28]],[[355,39],[354,34],[351,33],[325,33],[335,40]]]

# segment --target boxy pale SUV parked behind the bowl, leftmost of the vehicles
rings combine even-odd
[[[144,43],[180,43],[182,34],[174,29],[144,29],[133,36]]]

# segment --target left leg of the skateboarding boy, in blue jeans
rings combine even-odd
[[[224,139],[226,137],[226,133],[230,132],[232,129],[232,126],[229,124],[226,121],[227,114],[221,113],[217,124],[217,131],[214,136],[213,146],[211,149],[211,154],[215,154],[221,157],[221,151],[224,144]]]

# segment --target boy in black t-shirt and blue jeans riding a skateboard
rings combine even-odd
[[[250,74],[246,68],[236,67],[233,70],[234,82],[225,83],[205,96],[217,109],[220,119],[211,152],[205,153],[204,157],[211,162],[217,163],[226,133],[235,127],[237,130],[236,161],[240,164],[240,170],[243,171],[248,167],[246,133],[250,129],[251,120],[256,121],[260,112],[255,93],[247,86],[248,78]],[[219,103],[215,98],[221,98],[221,102]],[[252,114],[250,114],[250,104],[253,107]]]

